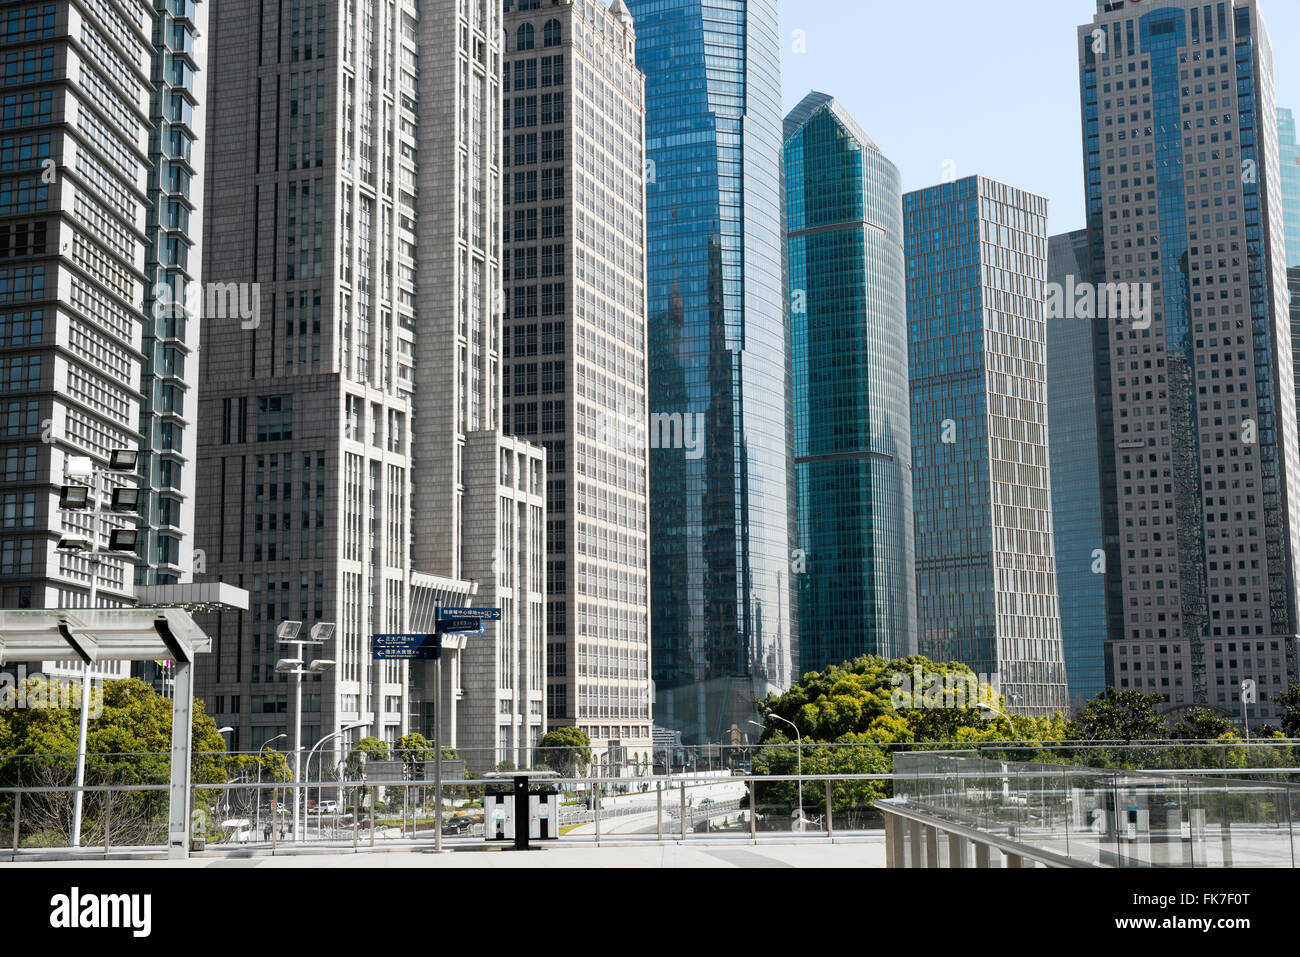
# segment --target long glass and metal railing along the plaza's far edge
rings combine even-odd
[[[1200,788],[1214,787],[1222,776],[1278,784],[1294,780],[1300,771],[1296,741],[979,742],[961,744],[948,753],[933,745],[907,748],[805,744],[802,810],[797,807],[801,779],[794,774],[796,745],[784,742],[731,749],[732,768],[638,776],[569,772],[546,787],[563,792],[556,823],[567,841],[699,835],[801,840],[879,831],[884,826],[876,806],[881,798],[919,793],[919,779],[909,776],[916,765],[907,762],[954,755],[1019,767],[1034,763],[1044,775],[1050,771],[1058,778],[1098,771],[1114,780],[1140,766],[1147,774],[1160,770],[1176,772],[1180,780],[1199,780]],[[196,753],[195,833],[208,846],[247,845],[277,853],[282,843],[286,848],[361,848],[430,841],[438,830],[452,844],[482,840],[481,798],[485,788],[498,784],[473,776],[472,767],[494,754],[460,752],[454,759],[459,765],[445,762],[439,818],[433,775],[424,763],[426,753],[389,754],[386,762],[368,763],[356,752],[317,752],[311,767],[303,768],[309,775],[303,781],[286,779],[283,753]],[[568,749],[534,757],[558,767],[573,763]],[[90,755],[82,830],[87,853],[165,845],[168,759],[168,754]],[[70,845],[74,763],[73,754],[0,755],[0,859]],[[755,774],[754,763],[766,774]],[[381,767],[398,779],[376,780]],[[448,767],[459,770],[448,774]],[[872,772],[837,771],[845,767]],[[303,809],[296,824],[290,813],[294,791],[300,793]]]

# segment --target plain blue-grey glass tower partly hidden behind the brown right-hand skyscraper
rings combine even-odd
[[[1063,290],[1092,282],[1088,230],[1048,241],[1048,282]],[[1106,576],[1092,322],[1086,317],[1053,316],[1046,332],[1052,527],[1061,592],[1061,642],[1072,706],[1106,688]]]

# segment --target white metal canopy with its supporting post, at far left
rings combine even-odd
[[[190,854],[190,753],[195,655],[212,648],[183,609],[44,609],[0,611],[0,664],[17,661],[176,662],[168,857]]]

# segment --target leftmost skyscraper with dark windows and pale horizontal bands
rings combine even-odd
[[[202,9],[187,5],[191,16]],[[139,450],[142,389],[183,404],[179,397],[192,385],[183,364],[164,386],[140,361],[146,277],[156,259],[147,254],[157,235],[147,235],[146,226],[160,198],[148,155],[159,133],[150,121],[153,16],[142,1],[46,3],[8,7],[0,18],[8,64],[0,134],[0,577],[6,609],[86,606],[92,575],[96,603],[133,602],[134,554],[96,562],[58,549],[62,538],[107,547],[112,531],[135,527],[125,512],[108,514],[99,528],[91,511],[60,512],[65,465],[90,456],[104,469],[114,450]],[[192,74],[186,55],[176,64]],[[186,176],[186,160],[168,170]],[[176,251],[183,255],[179,242]],[[183,412],[170,429],[181,445]],[[174,475],[182,480],[181,469]],[[104,472],[105,498],[135,486],[130,471]],[[169,567],[179,571],[188,560],[179,549],[185,516],[170,515],[168,525],[176,547],[165,558],[174,558]]]

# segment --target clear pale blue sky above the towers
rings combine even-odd
[[[1300,111],[1300,0],[1261,9],[1278,105]],[[1050,199],[1053,234],[1086,225],[1075,29],[1093,0],[780,0],[780,10],[786,112],[810,90],[829,94],[905,190],[933,186],[952,164],[957,177]]]

